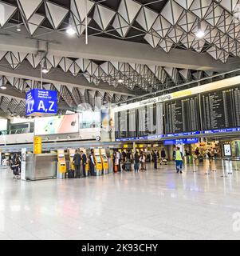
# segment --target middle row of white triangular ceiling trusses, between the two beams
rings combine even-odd
[[[21,63],[26,60],[33,69],[40,68],[41,63],[46,62],[49,72],[54,69],[61,69],[63,72],[71,74],[75,77],[83,76],[89,83],[98,86],[100,82],[108,83],[114,87],[120,85],[119,80],[122,79],[121,85],[130,90],[144,90],[146,92],[152,90],[165,89],[166,86],[175,86],[183,82],[190,82],[195,79],[191,75],[199,72],[200,77],[209,76],[207,72],[188,70],[189,76],[183,75],[183,70],[173,67],[151,66],[127,62],[96,62],[86,58],[66,58],[47,54],[46,57],[36,54],[27,54],[19,52],[5,52],[0,56],[6,59],[9,66],[16,70],[21,69]],[[0,62],[1,63],[1,62]]]

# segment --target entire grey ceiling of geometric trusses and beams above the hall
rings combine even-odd
[[[41,86],[43,63],[49,73],[42,86],[57,90],[61,110],[177,90],[237,69],[239,3],[1,0],[0,78],[9,95],[0,90],[0,108],[17,111],[26,90]],[[70,26],[73,38],[66,34]],[[203,38],[196,37],[199,26]]]

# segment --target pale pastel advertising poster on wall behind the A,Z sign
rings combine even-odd
[[[78,114],[35,118],[35,135],[69,134],[78,130]]]

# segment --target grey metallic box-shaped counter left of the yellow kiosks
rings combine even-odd
[[[57,154],[26,154],[26,180],[56,178]]]

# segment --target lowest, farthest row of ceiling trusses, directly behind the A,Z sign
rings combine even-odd
[[[6,85],[6,92],[25,93],[34,88],[42,88],[46,90],[57,90],[58,106],[60,113],[65,113],[66,110],[76,110],[79,105],[88,105],[92,110],[99,110],[104,102],[119,102],[128,99],[128,96],[122,94],[107,93],[104,90],[87,90],[72,85],[64,85],[61,83],[46,83],[41,87],[41,82],[22,79],[12,76],[0,76],[0,86],[2,82]],[[23,97],[25,94],[22,94]],[[18,106],[14,108],[13,106]],[[0,109],[7,114],[25,115],[25,100],[19,97],[2,96],[2,103]]]

